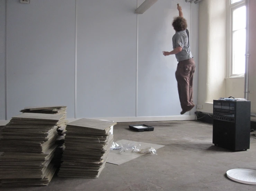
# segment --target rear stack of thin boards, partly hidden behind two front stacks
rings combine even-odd
[[[23,110],[20,110],[20,112],[23,113],[47,113],[47,114],[60,114],[62,115],[61,119],[67,118],[67,106],[45,106],[45,107],[26,107]],[[62,123],[62,126],[57,127],[58,131],[58,137],[56,139],[56,143],[58,147],[56,148],[54,158],[52,160],[52,163],[54,164],[54,167],[59,169],[61,164],[61,158],[63,151],[65,150],[64,140],[65,140],[65,134],[66,126],[68,121],[65,120],[65,123]]]

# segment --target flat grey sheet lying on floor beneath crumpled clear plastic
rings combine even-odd
[[[129,140],[116,141],[117,144],[125,144],[127,142],[129,142]],[[149,147],[153,147],[154,149],[157,150],[165,146],[160,144],[143,143],[143,142],[136,142],[136,141],[133,141],[133,142],[137,143],[138,145],[141,144],[140,149],[147,149]],[[120,165],[130,160],[136,159],[142,155],[144,154],[132,152],[132,149],[122,153],[120,153],[120,150],[111,150],[108,155],[107,163]]]

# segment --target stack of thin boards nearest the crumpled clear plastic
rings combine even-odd
[[[67,124],[60,177],[98,178],[113,142],[115,122],[80,119]]]

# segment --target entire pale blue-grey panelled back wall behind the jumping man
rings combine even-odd
[[[198,4],[179,3],[198,63]],[[137,0],[8,1],[8,119],[26,106],[51,104],[67,105],[74,118],[76,95],[78,118],[179,116],[177,61],[162,55],[172,50],[176,6],[161,0],[136,15]],[[197,72],[194,79],[197,103]]]

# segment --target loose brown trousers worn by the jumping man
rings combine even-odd
[[[178,63],[175,77],[178,82],[179,101],[182,111],[191,110],[193,102],[193,77],[195,72],[194,59],[183,60]]]

